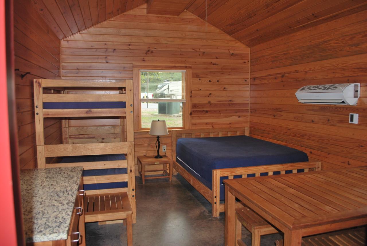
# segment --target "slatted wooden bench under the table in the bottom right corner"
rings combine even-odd
[[[366,227],[308,236],[302,238],[302,246],[365,246]],[[283,246],[283,240],[276,240],[276,246]]]

